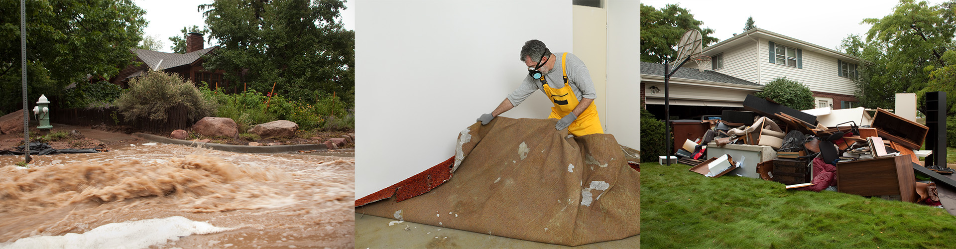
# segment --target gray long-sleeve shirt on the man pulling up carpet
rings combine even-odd
[[[545,80],[548,80],[548,87],[564,87],[564,79],[561,78],[561,54],[554,53],[554,68],[544,76]],[[571,53],[568,53],[567,60],[565,66],[568,70],[568,85],[575,92],[577,101],[580,102],[581,98],[596,99],[595,84],[591,81],[591,74],[588,72],[587,66],[584,65],[584,61]],[[526,75],[521,85],[518,85],[518,88],[508,95],[508,100],[511,101],[511,105],[518,106],[525,99],[528,99],[534,91],[541,90],[543,93],[544,89],[541,86],[540,80],[532,79],[531,76]]]

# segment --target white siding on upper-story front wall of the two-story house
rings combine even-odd
[[[825,57],[799,46],[793,48],[802,49],[803,68],[797,69],[791,66],[772,64],[770,62],[770,51],[767,39],[759,39],[760,45],[760,83],[766,84],[779,77],[795,79],[808,87],[811,91],[853,95],[857,89],[853,81],[842,78],[836,72],[836,58]],[[781,42],[773,40],[774,43]],[[788,46],[789,44],[783,44]],[[788,46],[791,47],[791,46]]]

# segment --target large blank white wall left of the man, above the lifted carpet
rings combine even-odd
[[[356,1],[356,195],[454,155],[458,133],[527,76],[525,41],[572,51],[571,16],[570,0]],[[503,116],[552,105],[535,93]]]

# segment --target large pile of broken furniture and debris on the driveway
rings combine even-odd
[[[678,162],[708,177],[746,176],[787,189],[847,192],[942,207],[936,185],[956,187],[953,170],[919,157],[930,128],[889,110],[795,110],[749,95],[745,111],[674,121]],[[929,134],[930,136],[939,136]],[[944,151],[936,151],[945,156]],[[663,160],[662,156],[662,160]],[[709,158],[709,159],[708,159]]]

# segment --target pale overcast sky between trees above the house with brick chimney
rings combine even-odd
[[[342,24],[346,30],[355,30],[355,0],[345,2],[345,11],[341,11]],[[136,5],[146,11],[146,21],[149,25],[143,29],[147,36],[153,36],[163,43],[162,52],[172,53],[172,41],[170,36],[183,35],[183,27],[192,27],[193,25],[203,28],[206,22],[203,13],[197,11],[196,7],[202,4],[212,3],[212,0],[136,0]],[[209,37],[206,35],[206,41]],[[206,43],[206,48],[215,46]]]

